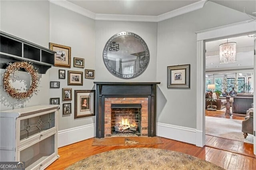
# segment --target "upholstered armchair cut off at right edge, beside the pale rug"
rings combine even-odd
[[[253,134],[253,109],[248,112],[249,116],[242,121],[242,132],[244,132],[244,138],[248,136],[248,133]]]

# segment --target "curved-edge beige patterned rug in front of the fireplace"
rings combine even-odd
[[[171,150],[128,148],[102,152],[66,170],[224,170],[220,166]]]

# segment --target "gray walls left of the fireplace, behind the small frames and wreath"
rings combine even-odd
[[[38,94],[25,101],[8,96],[3,90],[4,69],[0,69],[0,101],[1,111],[49,104],[51,97],[62,99],[62,88],[72,88],[72,114],[62,115],[62,101],[59,111],[59,130],[79,127],[94,123],[94,117],[74,119],[74,90],[94,89],[93,79],[84,79],[83,86],[67,85],[67,70],[82,71],[95,69],[95,21],[76,12],[45,1],[0,1],[1,3],[1,31],[12,34],[38,45],[49,47],[49,42],[71,47],[71,68],[52,67],[46,74],[39,74],[40,87]],[[11,21],[11,22],[10,22]],[[73,67],[73,57],[85,59],[85,68]],[[66,79],[58,79],[58,70],[66,70]],[[30,75],[17,72],[18,83],[29,85]],[[83,77],[84,78],[84,77]],[[50,81],[60,81],[60,89],[50,89]],[[65,101],[64,103],[69,103]]]

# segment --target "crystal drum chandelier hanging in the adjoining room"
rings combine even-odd
[[[220,64],[236,62],[236,42],[227,42],[220,44]]]

